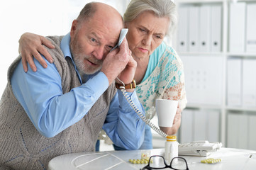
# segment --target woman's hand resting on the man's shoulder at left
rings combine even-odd
[[[43,36],[33,33],[23,33],[18,42],[18,52],[21,53],[22,65],[25,72],[28,72],[28,64],[30,65],[33,72],[36,72],[37,68],[35,67],[35,63],[33,62],[33,57],[35,57],[35,59],[38,60],[38,62],[40,62],[40,64],[44,68],[47,67],[45,60],[43,60],[43,57],[40,54],[45,56],[45,59],[48,60],[48,62],[52,63],[52,56],[43,45],[49,48],[55,47],[49,40],[47,40]]]

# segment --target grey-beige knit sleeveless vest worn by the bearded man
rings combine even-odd
[[[62,54],[62,37],[50,37],[54,50],[48,49],[62,78],[63,94],[80,86],[72,61]],[[111,84],[79,122],[52,138],[35,129],[11,89],[11,75],[19,56],[9,67],[8,84],[0,102],[0,169],[48,169],[50,159],[72,152],[94,151],[97,137],[104,124],[116,88]]]

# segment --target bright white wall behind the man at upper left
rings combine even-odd
[[[7,82],[7,70],[18,57],[18,40],[25,32],[65,35],[74,18],[91,0],[11,0],[0,2],[0,96]],[[123,14],[129,0],[101,0]]]

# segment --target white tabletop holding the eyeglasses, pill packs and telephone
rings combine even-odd
[[[131,164],[129,159],[140,159],[145,150],[133,151],[110,151],[110,152],[81,152],[65,154],[55,157],[49,162],[50,170],[77,170],[77,169],[140,169],[146,164]],[[164,149],[151,149],[150,156],[163,155]],[[203,164],[202,159],[206,157],[184,157],[189,170],[255,170],[256,151],[243,149],[221,148],[207,158],[221,158],[216,164]]]

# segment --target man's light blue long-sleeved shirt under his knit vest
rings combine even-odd
[[[73,61],[69,42],[70,35],[67,34],[62,38],[60,48],[64,56],[70,57]],[[63,94],[62,80],[55,64],[45,60],[48,68],[44,69],[37,60],[34,59],[34,62],[38,71],[33,72],[28,66],[27,73],[23,71],[22,63],[19,62],[11,77],[11,84],[13,94],[23,106],[35,128],[45,137],[54,137],[81,120],[108,88],[108,78],[103,72],[85,75],[86,83],[82,84],[76,69],[76,76],[79,77],[81,86]],[[128,94],[135,106],[144,113],[136,92]],[[133,111],[122,92],[118,90],[111,101],[103,126],[107,135],[119,147],[138,149],[144,139],[144,128],[143,120]]]

